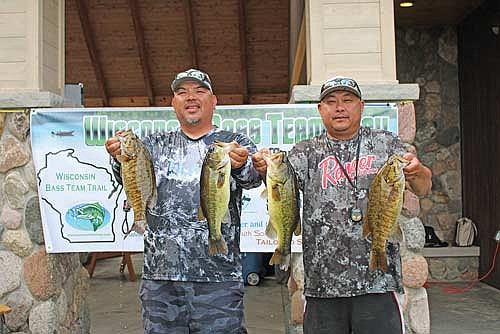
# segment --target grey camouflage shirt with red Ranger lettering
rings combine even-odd
[[[389,156],[405,150],[400,139],[388,131],[362,127],[359,134],[357,188],[368,192]],[[323,134],[298,143],[289,154],[303,192],[306,296],[334,298],[402,292],[399,245],[387,243],[388,273],[370,272],[370,243],[362,238],[362,221],[349,219],[349,209],[356,204],[353,186],[334,154],[354,180],[359,134],[346,141],[331,140]],[[356,204],[364,214],[367,202],[368,194]]]

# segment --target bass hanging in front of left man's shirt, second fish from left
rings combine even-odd
[[[227,254],[222,223],[231,221],[229,214],[231,159],[229,152],[236,142],[215,141],[203,160],[200,176],[200,210],[198,218],[208,223],[208,253]]]

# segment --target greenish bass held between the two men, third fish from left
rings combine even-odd
[[[266,235],[278,238],[278,246],[269,264],[282,270],[290,265],[292,234],[300,234],[299,187],[295,172],[284,152],[264,154],[267,163],[266,193],[269,223]]]

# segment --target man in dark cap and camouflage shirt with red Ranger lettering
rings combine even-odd
[[[392,154],[409,161],[403,172],[417,195],[430,191],[431,172],[393,133],[361,126],[361,96],[352,78],[325,81],[318,111],[326,133],[288,155],[303,194],[304,334],[403,332],[395,295],[403,292],[399,245],[388,242],[387,272],[370,271],[363,213],[370,185]],[[263,177],[266,151],[253,155]]]

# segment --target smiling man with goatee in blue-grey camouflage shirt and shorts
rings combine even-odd
[[[158,202],[148,210],[144,268],[139,291],[144,333],[247,333],[239,252],[242,189],[260,185],[249,153],[257,148],[242,134],[213,125],[217,104],[208,74],[189,69],[172,81],[172,106],[180,128],[143,138],[151,153]],[[200,173],[208,147],[236,141],[231,158],[231,222],[222,224],[228,253],[208,254],[208,226],[198,220]],[[106,142],[112,157],[117,137]],[[113,169],[119,177],[120,165]]]

